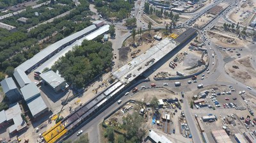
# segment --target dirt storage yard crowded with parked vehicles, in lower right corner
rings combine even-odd
[[[206,133],[210,142],[246,140],[244,132],[256,130],[255,99],[246,91],[216,85],[198,90],[192,99],[194,108],[191,112],[195,114],[198,128]],[[253,134],[252,138],[255,137]]]

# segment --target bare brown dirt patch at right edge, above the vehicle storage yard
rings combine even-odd
[[[239,69],[232,68],[234,65],[238,66]],[[227,63],[225,70],[234,79],[244,82],[248,86],[256,87],[256,72],[247,56]]]

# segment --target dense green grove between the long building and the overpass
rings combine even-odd
[[[112,50],[110,41],[99,43],[84,40],[81,46],[60,57],[52,70],[58,70],[68,83],[81,88],[104,69],[111,68]]]

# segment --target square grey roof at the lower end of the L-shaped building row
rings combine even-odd
[[[42,110],[48,108],[41,96],[38,96],[33,100],[29,100],[27,104],[32,116],[35,116],[36,114],[42,112]]]

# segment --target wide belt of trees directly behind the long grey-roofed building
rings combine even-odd
[[[57,34],[48,41],[49,44],[90,26],[92,24],[90,18],[84,17],[84,15],[91,14],[89,4],[86,1],[81,1],[81,3],[81,6],[78,6],[69,15],[55,19],[52,23],[42,24],[29,33],[26,29],[20,28],[15,33],[0,29],[0,71],[12,75],[16,66],[33,57],[40,49],[47,47],[46,44],[38,45],[38,40],[52,36],[52,33]]]

